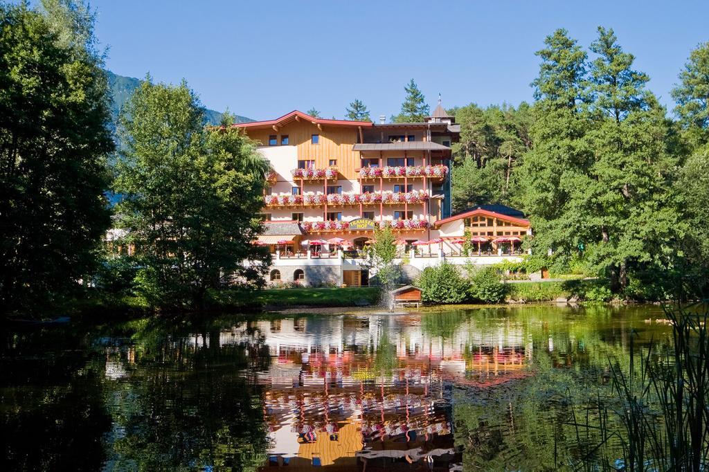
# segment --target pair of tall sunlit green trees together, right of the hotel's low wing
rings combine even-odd
[[[686,231],[673,189],[676,133],[613,30],[598,28],[591,63],[564,30],[545,43],[535,147],[521,171],[533,249],[554,249],[566,264],[579,256],[620,293],[638,271],[671,266]]]

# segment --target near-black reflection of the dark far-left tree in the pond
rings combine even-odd
[[[100,469],[101,437],[111,426],[100,359],[79,349],[81,339],[69,327],[4,335],[0,470]]]

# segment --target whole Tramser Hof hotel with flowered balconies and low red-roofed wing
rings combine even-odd
[[[414,272],[442,259],[515,257],[531,232],[524,215],[506,206],[451,214],[451,147],[460,125],[440,101],[420,123],[328,120],[296,110],[234,126],[259,142],[272,165],[265,229],[255,244],[274,254],[274,285],[366,284],[362,249],[378,227],[396,232]]]

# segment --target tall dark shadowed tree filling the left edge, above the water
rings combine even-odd
[[[43,12],[0,4],[3,313],[76,290],[110,223],[113,142],[93,15],[71,1],[47,1]]]

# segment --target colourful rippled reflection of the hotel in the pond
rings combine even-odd
[[[272,356],[257,373],[271,442],[265,467],[454,459],[452,384],[525,376],[531,340],[519,327],[465,323],[447,333],[421,320],[292,318],[221,332],[220,345],[263,337]]]

